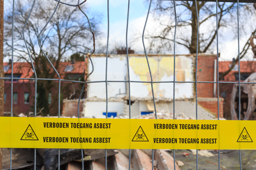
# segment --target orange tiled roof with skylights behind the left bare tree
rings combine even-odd
[[[70,69],[66,69],[66,68]],[[84,61],[75,62],[60,62],[58,72],[63,79],[66,74],[83,74],[85,69]],[[4,63],[5,75],[10,75],[12,72],[11,64]],[[52,70],[53,71],[53,70]],[[15,62],[13,63],[13,74],[20,75],[20,78],[31,78],[34,75],[33,68],[30,63],[27,62]],[[19,81],[29,81],[29,80],[19,80]]]

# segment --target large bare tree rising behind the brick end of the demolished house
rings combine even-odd
[[[217,35],[216,30],[216,3],[197,2],[199,15],[199,44],[198,52],[212,52]],[[240,8],[251,12],[246,4],[240,4]],[[195,54],[197,51],[197,10],[196,2],[177,1],[177,27],[182,33],[176,36],[176,43]],[[236,31],[237,3],[218,3],[218,28],[229,27]],[[243,13],[243,12],[241,12]],[[150,40],[150,50],[169,51],[173,46],[175,28],[174,4],[172,1],[156,1],[153,10],[154,18],[160,22],[158,31],[146,36]],[[161,18],[164,19],[161,20]],[[247,13],[248,16],[248,13]],[[242,18],[242,17],[241,17]],[[159,31],[160,29],[160,31]],[[220,31],[221,32],[221,31]],[[157,50],[156,50],[157,49]]]

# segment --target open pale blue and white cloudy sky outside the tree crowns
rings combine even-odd
[[[106,31],[107,31],[107,1],[87,1],[89,8],[93,11],[97,11],[102,14],[102,30],[104,33],[104,38],[102,43],[106,43]],[[129,15],[129,44],[131,44],[134,34],[142,34],[144,22],[146,18],[146,13],[148,8],[148,3],[144,0],[136,1],[131,0],[130,2],[130,15]],[[125,45],[125,31],[126,31],[126,19],[127,19],[127,1],[110,0],[110,45],[113,43],[121,43]],[[147,23],[146,30],[150,32],[151,28],[156,25],[152,15]],[[179,29],[179,28],[178,28]],[[207,30],[207,26],[200,29]],[[179,30],[177,30],[178,32]],[[180,30],[181,31],[181,30]],[[201,30],[200,30],[201,31]],[[219,38],[219,52],[221,53],[221,60],[232,60],[238,55],[238,40],[234,38],[234,35],[230,35],[230,30],[223,29],[219,34],[222,36]],[[240,36],[240,46],[241,50],[243,45],[248,39],[248,36]],[[105,42],[104,42],[105,41]],[[133,44],[132,48],[139,53],[143,52],[142,42],[138,40],[137,43]],[[131,46],[131,45],[129,45]],[[217,51],[215,51],[216,54]],[[181,46],[177,47],[177,54],[188,54],[188,50]],[[249,51],[249,57],[252,58],[251,50]]]

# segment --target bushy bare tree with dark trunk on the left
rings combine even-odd
[[[59,4],[56,13],[39,37],[40,31],[51,17],[57,2],[52,0],[36,1],[23,36],[23,27],[32,3],[32,0],[15,1],[14,57],[16,61],[31,63],[28,56],[30,53],[38,78],[57,78],[55,71],[53,71],[53,68],[38,46],[37,38],[39,38],[42,49],[58,71],[60,62],[70,57],[74,52],[90,52],[93,49],[93,39],[89,23],[78,7]],[[81,5],[81,7],[83,8],[84,5]],[[88,9],[83,8],[83,10],[88,13]],[[95,36],[98,36],[99,20],[96,19],[97,15],[90,13],[89,16],[91,16],[91,26]],[[12,10],[8,9],[5,15],[5,55],[8,55],[11,50],[11,24]],[[29,53],[26,50],[24,38],[26,39]],[[38,81],[38,90],[40,91],[40,88],[44,90],[39,95],[45,95],[38,99],[46,100],[45,105],[48,105],[48,94],[54,86],[53,81]],[[38,101],[38,104],[40,104],[40,101]],[[43,112],[47,113],[49,109],[46,106]]]

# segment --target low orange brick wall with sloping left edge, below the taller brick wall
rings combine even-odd
[[[220,98],[220,117],[223,118],[223,99]],[[218,117],[218,99],[217,98],[199,98],[198,104],[208,110],[211,113],[214,113]]]

